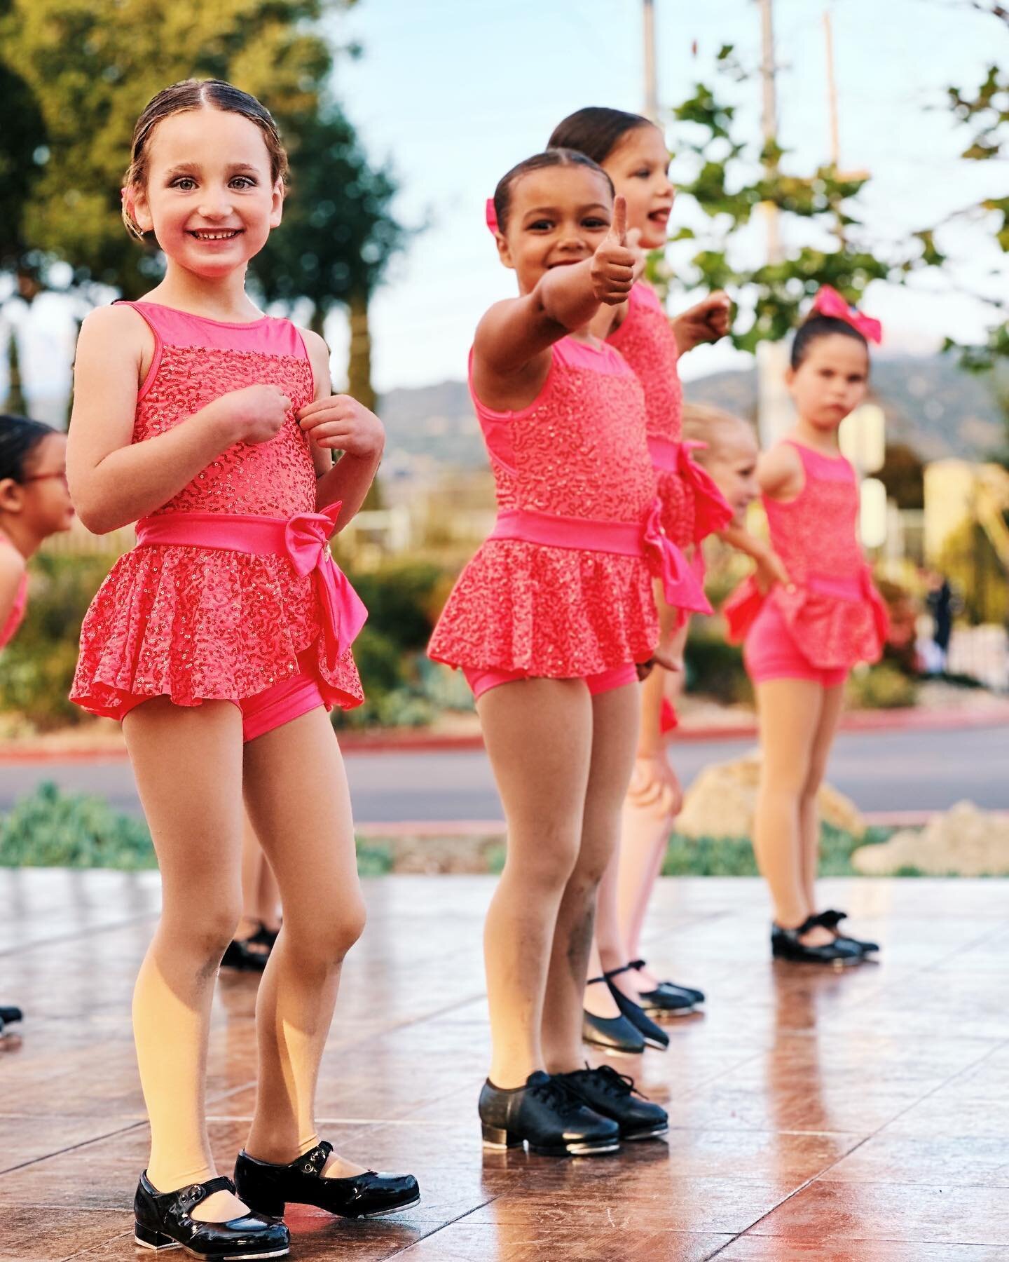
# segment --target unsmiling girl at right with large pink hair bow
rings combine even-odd
[[[762,459],[758,480],[771,540],[790,583],[748,579],[725,606],[744,639],[761,719],[754,851],[771,887],[772,952],[788,960],[850,964],[874,943],[839,934],[844,912],[816,910],[816,795],[858,661],[878,660],[887,611],[858,541],[859,486],[837,429],[865,396],[875,321],[824,286],[792,343],[788,391],[798,420]]]

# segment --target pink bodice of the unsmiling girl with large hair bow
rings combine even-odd
[[[764,497],[771,543],[793,583],[810,575],[858,578],[865,568],[858,539],[859,488],[843,457],[790,443],[802,461],[805,482],[795,500]]]

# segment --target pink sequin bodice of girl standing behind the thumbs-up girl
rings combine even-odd
[[[639,280],[627,300],[623,322],[609,334],[610,346],[634,370],[644,390],[648,433],[679,442],[684,430],[676,338],[658,294]]]

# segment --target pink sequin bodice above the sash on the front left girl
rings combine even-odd
[[[155,358],[136,405],[135,443],[173,429],[243,386],[280,386],[293,411],[312,403],[312,365],[290,321],[221,324],[156,303],[131,305],[155,334]],[[158,511],[290,517],[314,509],[312,453],[289,415],[271,442],[230,447]]]

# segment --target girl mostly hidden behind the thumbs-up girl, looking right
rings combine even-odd
[[[550,138],[588,154],[609,174],[618,194],[627,199],[627,221],[642,250],[666,244],[675,188],[670,182],[670,155],[662,133],[648,119],[623,110],[589,107],[566,117]],[[638,280],[627,302],[609,313],[608,339],[634,370],[644,390],[648,451],[656,467],[666,534],[692,553],[700,541],[726,528],[732,509],[711,477],[690,458],[682,443],[682,390],[677,361],[701,342],[723,337],[729,328],[730,303],[725,294],[711,294],[670,322],[655,290]],[[607,334],[604,326],[598,331]],[[750,546],[745,533],[739,538]],[[766,559],[761,558],[766,564]],[[662,642],[675,661],[681,660],[687,631],[686,610],[676,610],[657,593]],[[585,996],[585,1036],[617,1051],[634,1051],[638,1042],[665,1046],[668,1037],[642,1012],[653,1015],[690,1012],[704,1000],[700,991],[660,982],[643,962],[618,944],[617,887],[636,890],[634,901],[647,904],[668,842],[680,793],[668,764],[662,736],[666,679],[653,671],[642,688],[638,752],[631,793],[623,810],[619,856],[603,878],[597,933],[602,964]],[[599,984],[599,983],[609,983]],[[631,1020],[614,1023],[621,1011]]]

